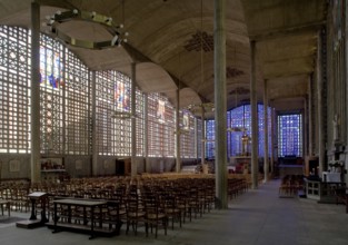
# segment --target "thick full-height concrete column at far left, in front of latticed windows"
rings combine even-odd
[[[40,4],[31,2],[31,183],[40,175]]]

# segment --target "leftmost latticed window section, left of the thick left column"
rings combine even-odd
[[[29,31],[0,26],[0,153],[30,153]]]

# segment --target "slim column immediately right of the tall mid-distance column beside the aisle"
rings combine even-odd
[[[269,174],[269,163],[268,163],[268,91],[267,91],[267,80],[265,80],[264,85],[264,134],[265,134],[265,141],[264,141],[264,149],[265,149],[265,157],[264,157],[264,182],[268,182],[268,174]]]

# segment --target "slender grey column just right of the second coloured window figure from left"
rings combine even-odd
[[[131,177],[136,177],[138,174],[138,164],[137,164],[137,125],[136,125],[136,63],[131,63],[131,85],[130,85],[130,127],[131,127],[131,147],[130,147],[130,155],[131,155]]]

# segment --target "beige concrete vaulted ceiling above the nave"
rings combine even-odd
[[[131,75],[147,91],[166,94],[180,107],[213,102],[213,1],[208,0],[38,0],[42,23],[58,10],[78,9],[112,18],[129,32],[121,47],[86,49],[68,45],[92,70]],[[227,107],[250,97],[250,40],[256,41],[258,99],[264,81],[274,105],[301,108],[315,70],[318,31],[326,21],[326,0],[226,0]],[[0,24],[30,28],[31,0],[1,0]],[[81,40],[111,40],[105,26],[66,21],[61,32]],[[54,37],[50,27],[41,31]],[[238,100],[238,102],[236,102]],[[288,102],[288,101],[291,102]],[[277,102],[279,101],[279,102]],[[294,108],[290,108],[294,109]]]

